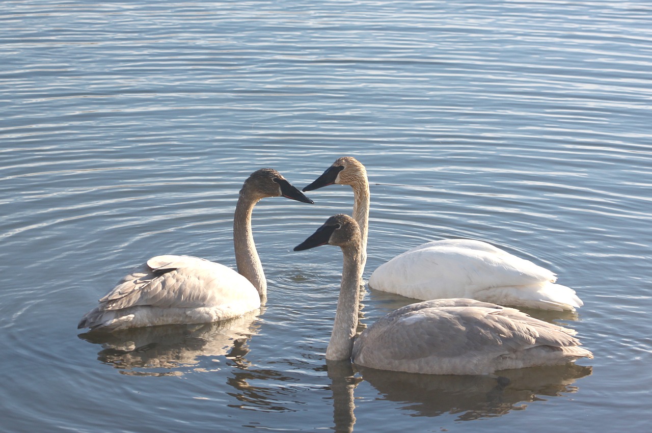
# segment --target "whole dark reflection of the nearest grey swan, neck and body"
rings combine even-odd
[[[456,421],[499,417],[525,410],[528,402],[578,391],[574,382],[591,374],[590,366],[576,364],[503,370],[497,375],[441,376],[375,370],[348,361],[326,361],[333,393],[335,432],[353,432],[354,393],[368,382],[379,396],[374,400],[398,403],[410,416],[437,417],[450,413]],[[360,376],[355,374],[355,370]],[[359,405],[364,400],[358,400]]]

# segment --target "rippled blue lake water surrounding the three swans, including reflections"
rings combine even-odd
[[[652,424],[649,1],[0,2],[0,431],[642,432]],[[484,376],[326,364],[351,188],[266,199],[259,314],[76,329],[157,254],[235,266],[249,173],[372,183],[365,276],[481,239],[585,305],[595,359]],[[369,325],[411,299],[368,290]],[[245,428],[243,430],[243,428]]]

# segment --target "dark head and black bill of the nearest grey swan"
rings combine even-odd
[[[361,243],[362,235],[358,223],[348,215],[339,214],[328,218],[308,239],[295,246],[294,250],[303,251],[321,245],[359,248]]]

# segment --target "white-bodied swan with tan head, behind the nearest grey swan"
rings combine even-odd
[[[353,157],[338,158],[303,191],[333,184],[353,188],[353,218],[361,228],[366,245],[369,220],[366,169]],[[366,257],[366,252],[363,254]],[[556,284],[556,280],[552,271],[486,242],[444,239],[416,246],[383,263],[368,283],[375,290],[424,301],[464,297],[557,311],[574,311],[584,305],[574,290]]]

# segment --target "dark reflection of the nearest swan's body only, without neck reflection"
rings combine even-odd
[[[505,415],[524,410],[521,402],[541,396],[574,393],[574,381],[591,374],[590,366],[576,364],[503,370],[497,376],[436,376],[388,372],[357,366],[383,400],[401,402],[413,416],[459,414],[458,421]]]

